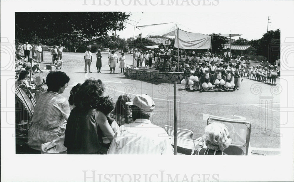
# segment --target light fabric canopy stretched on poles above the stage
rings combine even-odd
[[[176,36],[174,45],[176,48],[178,48],[178,44],[181,49],[211,48],[211,36],[193,32],[179,23],[160,23],[137,26],[136,28],[151,35]]]

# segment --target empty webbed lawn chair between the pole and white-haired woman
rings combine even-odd
[[[170,137],[170,142],[174,145],[174,127],[165,125],[168,136]],[[191,130],[177,128],[177,146],[192,150],[191,155],[193,155],[196,146],[201,142],[201,137],[194,139],[194,134]]]

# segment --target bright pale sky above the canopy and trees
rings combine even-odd
[[[238,33],[243,34],[242,38],[259,39],[267,31],[268,16],[271,22],[269,30],[277,30],[279,27],[279,18],[283,18],[274,12],[246,14],[246,13],[224,13],[222,11],[209,12],[131,12],[130,20],[126,23],[123,31],[116,33],[121,38],[133,37],[133,27],[156,23],[178,22],[193,31],[203,34],[211,33]],[[138,23],[137,23],[138,22]],[[133,24],[130,25],[129,23]],[[141,32],[135,28],[135,36],[142,33],[145,37],[146,32]],[[233,37],[238,39],[238,37]]]

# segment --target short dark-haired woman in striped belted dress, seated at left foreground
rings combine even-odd
[[[46,77],[47,92],[42,94],[34,110],[32,126],[28,132],[28,145],[41,151],[41,144],[62,136],[70,114],[69,101],[61,96],[69,77],[61,71],[50,72]]]

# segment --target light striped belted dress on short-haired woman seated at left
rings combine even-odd
[[[69,102],[56,92],[42,94],[34,110],[32,126],[28,132],[28,145],[41,150],[41,144],[57,139],[64,134],[69,117]]]

